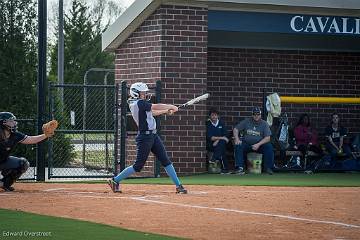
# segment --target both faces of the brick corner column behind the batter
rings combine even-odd
[[[162,81],[162,101],[182,104],[206,92],[207,9],[161,6],[116,50],[116,81]],[[161,119],[161,135],[179,174],[205,171],[205,103]],[[127,164],[135,158],[127,140]],[[149,159],[148,165],[153,159]],[[144,171],[143,174],[151,173]]]

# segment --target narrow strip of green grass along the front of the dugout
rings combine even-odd
[[[299,186],[299,187],[360,187],[360,173],[275,173],[219,175],[200,174],[180,177],[184,185],[217,186]],[[167,177],[126,179],[123,183],[172,184]]]

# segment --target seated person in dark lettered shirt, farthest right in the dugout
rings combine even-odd
[[[334,164],[338,154],[345,153],[346,157],[353,158],[350,147],[344,143],[347,136],[347,129],[340,125],[340,118],[337,113],[331,115],[331,125],[325,129],[327,137],[326,150],[331,155]]]

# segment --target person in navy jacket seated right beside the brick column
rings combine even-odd
[[[226,127],[219,119],[219,112],[211,109],[209,112],[209,122],[207,124],[207,141],[208,150],[213,152],[213,157],[210,161],[219,161],[221,163],[221,173],[228,174],[229,167],[226,158],[226,144],[229,142]]]

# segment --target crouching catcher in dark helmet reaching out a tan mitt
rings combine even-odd
[[[16,130],[17,122],[14,114],[0,112],[0,172],[3,178],[0,180],[0,188],[5,191],[14,191],[11,186],[22,174],[26,172],[30,164],[25,158],[10,156],[11,150],[17,143],[36,144],[54,135],[58,123],[52,120],[43,125],[44,134],[28,136]]]

